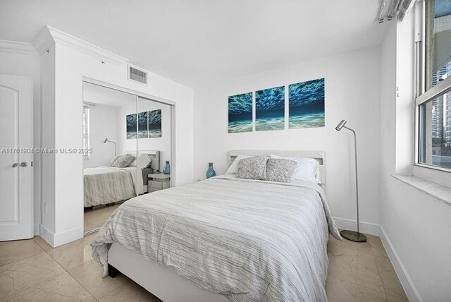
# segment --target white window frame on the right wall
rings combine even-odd
[[[451,169],[435,166],[433,164],[425,164],[420,162],[420,127],[421,127],[421,104],[432,101],[435,97],[442,95],[444,92],[451,90],[451,76],[445,78],[437,85],[426,91],[426,0],[417,3],[421,4],[419,16],[415,20],[415,152],[414,166],[444,171],[451,174]]]

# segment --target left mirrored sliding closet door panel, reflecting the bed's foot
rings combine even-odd
[[[123,117],[135,114],[136,106],[136,95],[83,82],[85,233],[101,227],[124,200],[136,196],[136,168],[129,167],[136,157],[136,139],[126,139]],[[125,150],[130,155],[120,157]]]

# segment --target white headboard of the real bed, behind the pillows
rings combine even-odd
[[[319,176],[321,178],[321,183],[326,185],[326,169],[324,164],[324,151],[268,151],[268,150],[230,150],[228,152],[228,164],[232,164],[237,155],[264,155],[270,156],[278,155],[283,157],[309,157],[314,158],[319,163]]]

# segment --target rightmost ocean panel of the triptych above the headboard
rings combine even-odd
[[[289,128],[325,126],[324,78],[288,85]]]

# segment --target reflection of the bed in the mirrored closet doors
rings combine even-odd
[[[148,192],[147,174],[159,170],[159,151],[125,151],[123,154],[130,154],[135,157],[135,160],[128,167],[83,169],[85,207],[108,205],[128,200],[137,195],[136,191],[138,195]],[[149,159],[151,162],[148,165]]]

